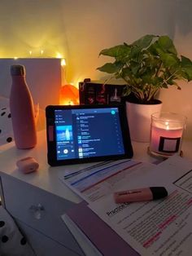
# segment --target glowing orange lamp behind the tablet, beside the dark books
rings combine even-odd
[[[79,90],[72,85],[64,85],[60,89],[60,105],[78,105]]]

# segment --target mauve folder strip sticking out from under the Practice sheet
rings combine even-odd
[[[72,207],[67,214],[103,255],[139,255],[107,223],[90,210],[85,201]]]

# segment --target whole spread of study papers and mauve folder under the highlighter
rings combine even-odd
[[[90,183],[89,178],[85,178],[87,174],[79,177],[78,186],[74,180],[70,183],[70,186],[75,184],[73,190],[82,194],[89,205],[78,205],[78,211],[71,210],[68,215],[101,253],[189,255],[192,249],[192,162],[173,156],[158,166],[128,161],[119,162],[118,168],[108,167],[103,170],[104,175],[101,170],[99,177],[91,179]],[[168,197],[120,205],[113,199],[113,192],[118,190],[154,186],[165,187]]]

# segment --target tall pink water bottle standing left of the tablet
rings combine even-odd
[[[37,143],[33,98],[25,81],[23,65],[11,65],[10,110],[15,145],[17,148],[33,148]]]

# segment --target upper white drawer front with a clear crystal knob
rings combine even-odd
[[[82,254],[61,218],[74,203],[8,175],[2,175],[2,189],[6,209],[14,218]]]

